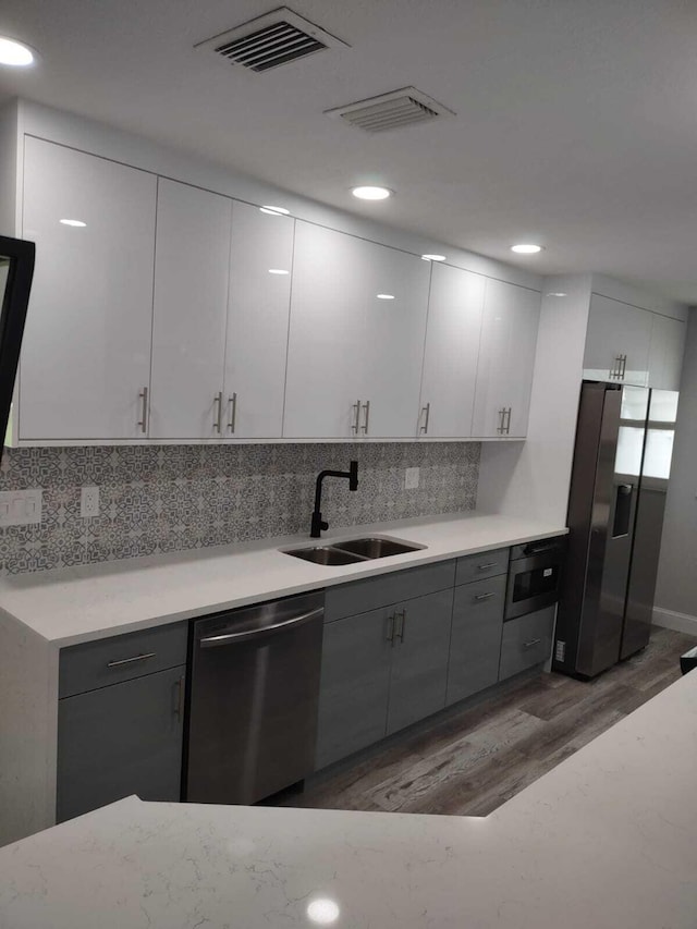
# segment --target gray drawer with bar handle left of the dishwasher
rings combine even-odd
[[[63,648],[58,696],[71,697],[185,664],[187,635],[188,623],[180,622]]]

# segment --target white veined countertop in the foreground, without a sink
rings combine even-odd
[[[140,803],[0,849],[2,929],[695,929],[697,672],[487,818]]]

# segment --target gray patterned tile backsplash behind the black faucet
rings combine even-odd
[[[358,460],[358,490],[325,481],[330,525],[472,510],[477,442],[5,449],[0,490],[44,489],[42,523],[0,529],[0,574],[309,531],[315,478]],[[419,487],[404,489],[404,469]],[[80,515],[81,487],[100,514]]]

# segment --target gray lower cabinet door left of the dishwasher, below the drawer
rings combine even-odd
[[[185,672],[182,664],[59,701],[58,822],[130,794],[180,799]]]

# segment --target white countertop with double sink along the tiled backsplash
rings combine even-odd
[[[0,582],[0,609],[46,641],[63,647],[565,531],[563,526],[536,519],[475,512],[352,526],[329,531],[321,541],[285,536],[11,575]],[[313,564],[279,551],[370,534],[390,535],[426,548],[339,567]]]

